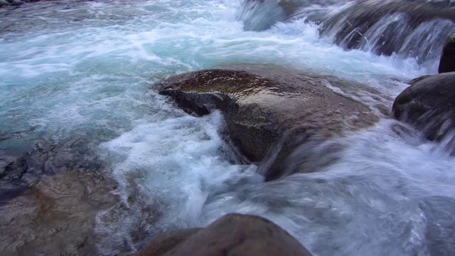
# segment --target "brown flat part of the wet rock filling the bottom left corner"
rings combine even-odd
[[[43,176],[0,203],[0,255],[96,255],[95,217],[117,202],[100,174]]]

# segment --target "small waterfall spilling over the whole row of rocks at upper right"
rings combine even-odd
[[[275,23],[304,18],[321,24],[321,36],[346,49],[378,55],[437,60],[455,31],[451,1],[424,0],[245,0],[237,18],[245,31],[263,31]]]

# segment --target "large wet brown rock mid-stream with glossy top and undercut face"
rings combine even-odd
[[[267,159],[259,169],[272,180],[285,175],[287,156],[296,146],[378,120],[365,105],[325,86],[349,83],[354,82],[274,65],[238,65],[177,75],[157,87],[186,112],[221,110],[233,144],[250,161]]]

